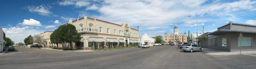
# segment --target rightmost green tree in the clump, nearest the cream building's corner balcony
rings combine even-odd
[[[81,40],[81,35],[77,33],[76,27],[72,24],[63,25],[66,26],[62,28],[63,30],[61,32],[65,32],[66,36],[64,38],[66,39],[65,42],[70,44],[71,49],[73,50],[72,42],[79,42]]]

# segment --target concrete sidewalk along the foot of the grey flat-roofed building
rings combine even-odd
[[[252,54],[256,53],[256,51],[236,51],[236,52],[228,52],[228,51],[222,51],[222,50],[216,50],[216,49],[211,49],[211,48],[204,48],[202,50],[203,53],[208,54],[208,55],[235,55],[235,54]]]

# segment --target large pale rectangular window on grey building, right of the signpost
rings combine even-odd
[[[238,47],[240,47],[241,38],[238,37]],[[252,37],[242,37],[241,47],[252,47]]]

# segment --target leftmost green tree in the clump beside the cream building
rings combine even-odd
[[[54,30],[53,33],[50,35],[51,42],[54,43],[54,44],[57,44],[57,48],[59,48],[59,43],[62,43],[62,41],[60,39],[61,35],[59,33],[60,32],[59,28]]]

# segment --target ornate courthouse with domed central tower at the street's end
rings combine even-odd
[[[179,34],[179,28],[177,27],[176,23],[175,26],[173,28],[173,34],[169,34],[167,32],[164,33],[164,41],[168,42],[168,41],[172,41],[175,44],[178,43],[178,41],[180,42],[187,42],[187,32],[185,31],[184,34]]]

